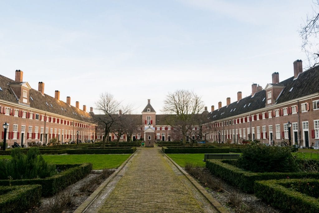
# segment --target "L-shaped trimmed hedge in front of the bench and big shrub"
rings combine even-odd
[[[236,160],[207,160],[206,168],[212,174],[221,177],[227,182],[241,188],[245,192],[254,192],[254,182],[256,180],[286,179],[288,178],[319,178],[319,173],[315,172],[251,172],[244,171],[231,163]]]

